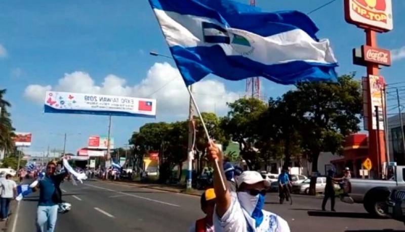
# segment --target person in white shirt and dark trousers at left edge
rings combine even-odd
[[[11,179],[12,175],[7,174],[6,179],[2,179],[2,221],[9,217],[9,205],[11,200],[17,197],[17,183]]]

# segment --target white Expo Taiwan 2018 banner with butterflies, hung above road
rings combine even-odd
[[[45,113],[156,117],[156,99],[47,91]]]

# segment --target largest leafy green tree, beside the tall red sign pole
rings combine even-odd
[[[353,78],[351,74],[340,76],[337,83],[302,82],[286,94],[288,101],[298,103],[301,146],[312,162],[312,172],[318,171],[320,152],[341,153],[344,137],[359,130],[362,95],[360,82]],[[312,177],[311,194],[315,183]]]

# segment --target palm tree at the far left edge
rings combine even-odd
[[[0,151],[10,153],[14,150],[13,136],[14,128],[10,119],[10,113],[7,108],[11,107],[11,104],[4,99],[7,89],[0,89]]]

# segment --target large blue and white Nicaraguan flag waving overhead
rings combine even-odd
[[[149,0],[186,85],[213,73],[281,84],[336,78],[329,40],[297,11],[261,12],[230,0]]]

